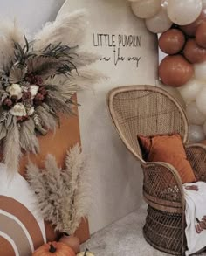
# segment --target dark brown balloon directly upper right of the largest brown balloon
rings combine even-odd
[[[184,46],[184,57],[190,63],[201,63],[206,60],[206,49],[196,44],[196,40],[190,38]]]

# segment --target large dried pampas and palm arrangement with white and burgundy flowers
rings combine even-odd
[[[86,12],[47,23],[32,41],[17,24],[0,25],[0,143],[8,170],[17,171],[22,151],[38,153],[37,134],[73,114],[72,95],[100,79],[88,65],[98,59],[80,50]]]

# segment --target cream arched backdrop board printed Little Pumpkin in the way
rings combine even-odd
[[[79,93],[82,147],[91,160],[96,232],[141,204],[142,171],[120,142],[106,109],[106,94],[115,86],[148,84],[157,79],[156,38],[134,17],[126,0],[67,0],[58,15],[86,8],[90,30],[85,48],[101,55],[95,68],[108,76],[93,91]]]

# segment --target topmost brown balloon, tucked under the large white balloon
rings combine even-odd
[[[196,35],[196,28],[198,27],[198,25],[203,24],[204,22],[206,22],[206,9],[201,11],[201,14],[193,23],[180,26],[180,29],[187,36],[194,37]]]

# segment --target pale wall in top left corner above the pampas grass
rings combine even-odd
[[[55,19],[65,0],[0,0],[0,19],[17,18],[30,32],[38,31],[42,24]]]

